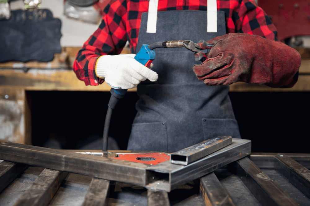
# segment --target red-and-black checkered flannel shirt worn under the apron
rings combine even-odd
[[[248,33],[277,40],[277,30],[254,0],[217,0],[217,10],[225,12],[227,33]],[[159,0],[158,11],[207,10],[207,0]],[[73,64],[73,70],[86,85],[104,82],[95,73],[101,55],[120,54],[126,41],[135,53],[143,12],[148,0],[112,0],[104,9],[99,28],[84,43]],[[292,82],[291,82],[292,83]]]

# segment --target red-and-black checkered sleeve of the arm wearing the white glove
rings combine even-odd
[[[104,9],[99,28],[84,43],[73,63],[73,71],[85,85],[104,82],[96,76],[95,65],[102,55],[120,54],[126,37],[126,0],[113,0]]]

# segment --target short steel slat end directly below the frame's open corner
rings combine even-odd
[[[168,193],[148,189],[148,206],[170,206]]]

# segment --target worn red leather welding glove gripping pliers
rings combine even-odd
[[[197,78],[206,85],[229,85],[235,82],[290,87],[301,63],[299,53],[281,42],[261,36],[229,33],[215,37],[207,60],[194,65]]]

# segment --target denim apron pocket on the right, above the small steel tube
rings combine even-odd
[[[218,136],[241,138],[235,119],[202,119],[204,140]]]

